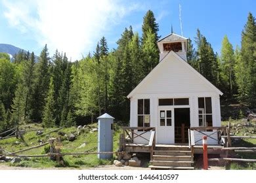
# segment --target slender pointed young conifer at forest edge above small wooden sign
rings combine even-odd
[[[45,127],[53,127],[55,125],[53,77],[51,77],[50,80],[49,91],[47,93],[46,103],[43,109],[43,125]]]

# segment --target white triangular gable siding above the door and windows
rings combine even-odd
[[[184,67],[173,54],[168,55],[161,67],[156,69],[136,93],[213,92],[200,76]],[[186,61],[184,61],[186,62]],[[185,63],[188,64],[188,63]]]

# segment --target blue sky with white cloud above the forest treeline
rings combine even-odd
[[[39,55],[47,43],[51,56],[58,48],[68,57],[80,59],[93,52],[96,42],[105,36],[109,48],[116,48],[125,27],[133,26],[141,35],[143,16],[151,9],[162,37],[173,30],[181,34],[179,4],[182,7],[184,37],[194,39],[196,29],[220,52],[224,35],[235,47],[248,12],[256,16],[256,1],[203,0],[0,0],[0,43],[13,44]]]

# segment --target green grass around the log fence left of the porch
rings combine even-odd
[[[16,139],[15,137],[10,139],[5,139],[0,141],[0,146],[2,146],[3,149],[7,150],[8,152],[16,152],[18,150],[22,150],[24,148],[28,148],[30,146],[36,146],[39,144],[39,140],[43,142],[47,142],[47,139],[51,137],[60,137],[62,139],[63,148],[61,152],[68,153],[68,152],[96,152],[97,151],[97,142],[98,142],[98,133],[90,132],[90,129],[93,127],[96,127],[97,124],[91,124],[90,127],[87,127],[86,129],[83,129],[82,133],[77,136],[77,139],[75,141],[70,142],[66,137],[58,135],[58,131],[54,133],[50,133],[49,135],[42,135],[37,136],[35,135],[35,131],[28,132],[24,135],[24,139],[28,146],[24,144],[20,139]],[[41,125],[38,124],[30,124],[30,127],[28,125],[24,125],[20,127],[22,129],[41,129]],[[44,134],[53,131],[54,129],[57,129],[56,127],[47,129],[44,131]],[[70,133],[76,133],[76,127],[69,127],[65,129],[60,129],[62,133],[70,134]],[[120,129],[119,126],[115,127],[114,131],[114,150],[116,151],[118,148],[118,141],[119,141],[119,133]],[[15,142],[19,141],[20,144],[16,144]],[[85,143],[85,147],[79,148],[81,144]],[[43,146],[40,148],[35,148],[26,152],[21,152],[19,154],[26,154],[26,155],[33,155],[33,154],[47,154],[49,150],[49,145]],[[115,155],[114,155],[115,156]],[[79,156],[64,156],[64,167],[70,167],[75,169],[83,169],[86,167],[96,167],[98,165],[110,165],[113,163],[113,159],[98,159],[97,154],[90,154],[90,155],[79,155]],[[11,163],[7,163],[7,165],[11,166]],[[56,161],[51,160],[49,157],[47,158],[31,158],[31,159],[22,159],[20,163],[15,163],[12,166],[18,166],[18,167],[34,167],[34,168],[50,168],[50,167],[59,167],[56,163]]]

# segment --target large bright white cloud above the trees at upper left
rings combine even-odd
[[[47,43],[51,53],[58,48],[73,60],[81,58],[95,46],[95,40],[140,8],[136,3],[123,5],[118,0],[3,1],[3,5],[10,25],[22,33],[32,33],[41,46]]]

